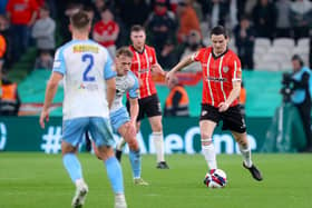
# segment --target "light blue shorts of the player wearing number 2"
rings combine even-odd
[[[62,140],[76,147],[90,132],[97,147],[114,146],[115,140],[109,120],[101,117],[85,117],[64,120]]]

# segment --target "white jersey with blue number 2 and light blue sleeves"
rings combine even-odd
[[[53,72],[64,76],[64,120],[109,118],[106,81],[116,76],[108,51],[91,40],[71,40],[55,56]]]

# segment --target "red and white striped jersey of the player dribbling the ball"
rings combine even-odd
[[[230,49],[217,57],[213,48],[202,48],[192,56],[194,61],[199,61],[203,70],[203,103],[218,107],[224,102],[233,89],[233,81],[242,80],[241,61]],[[236,106],[238,100],[231,103]]]

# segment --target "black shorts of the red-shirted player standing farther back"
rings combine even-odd
[[[127,110],[130,115],[130,105],[129,101],[127,100]],[[149,117],[155,117],[155,116],[162,116],[162,108],[160,108],[160,102],[158,99],[157,93],[154,93],[149,97],[138,99],[138,116],[137,116],[137,121],[142,120],[145,118],[145,115]]]

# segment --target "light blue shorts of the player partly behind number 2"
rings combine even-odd
[[[110,123],[113,126],[114,132],[118,132],[118,129],[126,122],[130,120],[129,113],[125,107],[119,108],[118,110],[109,115]]]

